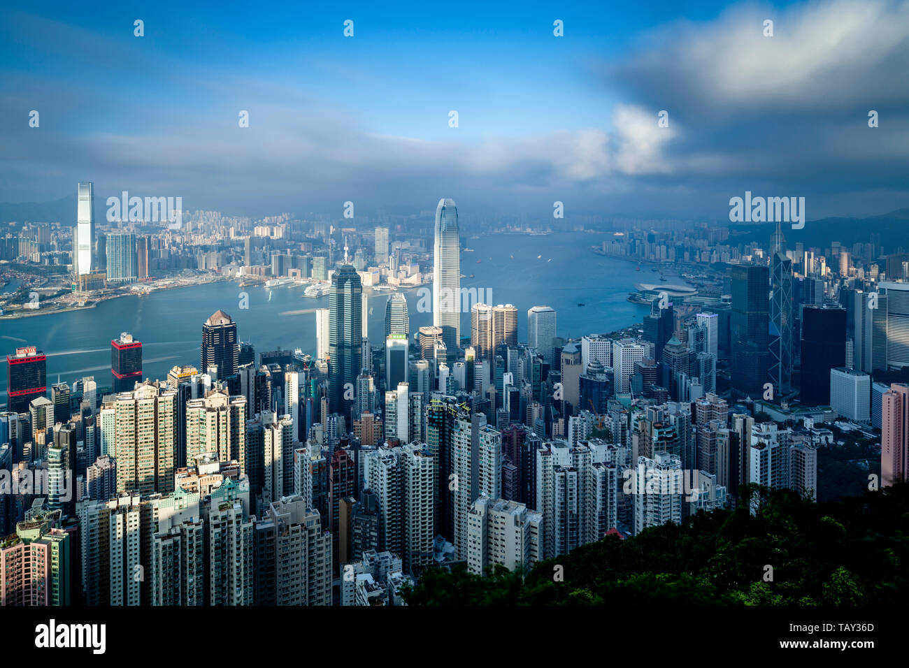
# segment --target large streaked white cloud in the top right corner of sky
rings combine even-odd
[[[893,84],[907,66],[909,2],[832,0],[674,22],[611,75],[685,106],[783,111],[906,99],[909,89]]]

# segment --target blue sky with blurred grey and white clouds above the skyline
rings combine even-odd
[[[259,215],[452,195],[710,218],[762,188],[817,215],[907,205],[905,2],[86,7],[2,12],[0,201],[90,179]]]

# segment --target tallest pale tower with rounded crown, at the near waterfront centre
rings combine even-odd
[[[451,360],[461,343],[461,244],[453,199],[440,199],[435,209],[433,253],[433,324],[442,328]]]

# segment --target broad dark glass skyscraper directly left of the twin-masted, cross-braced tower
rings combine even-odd
[[[770,282],[768,268],[740,264],[729,269],[733,310],[732,386],[735,392],[763,396],[770,367]],[[779,388],[774,388],[779,393]]]

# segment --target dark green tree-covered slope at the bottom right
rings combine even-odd
[[[698,513],[480,577],[427,570],[411,605],[868,605],[909,593],[909,486],[830,503],[747,485],[754,514]],[[562,567],[564,581],[554,573]],[[773,567],[772,580],[767,566]]]

